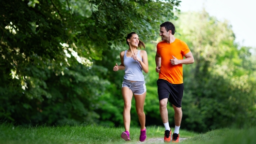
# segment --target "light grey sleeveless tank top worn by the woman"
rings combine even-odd
[[[137,57],[141,58],[140,56],[141,50],[138,51]],[[125,65],[125,76],[124,79],[129,81],[144,81],[144,75],[142,73],[142,67],[139,61],[134,60],[131,57],[126,56],[127,50],[125,51],[124,55],[124,65]],[[141,58],[141,60],[143,60]]]

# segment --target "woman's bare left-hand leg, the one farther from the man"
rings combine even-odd
[[[125,130],[129,131],[132,91],[128,87],[122,87],[122,95],[124,99],[124,112],[123,112],[124,125],[125,125]]]

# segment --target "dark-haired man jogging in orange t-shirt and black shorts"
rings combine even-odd
[[[183,97],[183,70],[182,64],[194,62],[193,55],[188,45],[176,39],[174,36],[175,26],[171,22],[160,25],[160,36],[162,41],[157,44],[156,72],[159,72],[158,97],[160,104],[160,115],[165,127],[164,142],[179,142],[179,127],[182,118],[181,100]],[[183,58],[185,57],[185,59]],[[169,126],[167,103],[172,103],[174,108],[175,130]]]

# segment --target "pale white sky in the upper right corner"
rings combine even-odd
[[[180,0],[181,12],[203,8],[218,20],[229,21],[240,46],[256,47],[256,0]]]

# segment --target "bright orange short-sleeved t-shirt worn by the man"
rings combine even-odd
[[[157,44],[157,53],[161,56],[159,79],[167,80],[171,84],[182,84],[182,64],[172,65],[170,59],[173,59],[173,56],[183,59],[183,56],[189,52],[189,46],[179,39],[175,39],[173,43],[159,42]]]

